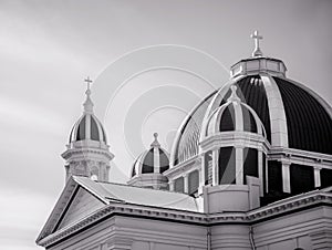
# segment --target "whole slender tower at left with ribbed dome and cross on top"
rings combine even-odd
[[[66,160],[66,180],[71,176],[87,176],[94,180],[108,180],[110,162],[114,155],[110,152],[103,124],[93,113],[90,77],[83,103],[83,114],[74,124],[66,150],[62,157]]]

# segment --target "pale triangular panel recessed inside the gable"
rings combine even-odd
[[[66,211],[61,218],[61,221],[55,230],[79,221],[80,219],[89,216],[104,206],[105,205],[91,192],[86,191],[82,187],[79,187],[75,196],[68,205]]]

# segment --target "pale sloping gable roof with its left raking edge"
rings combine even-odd
[[[104,206],[112,202],[124,202],[147,207],[198,211],[195,198],[185,194],[133,187],[122,184],[101,183],[91,180],[87,177],[75,176],[68,180],[37,242],[58,230],[80,189],[87,191]],[[87,215],[86,212],[93,213],[95,210],[97,210],[97,208],[85,211],[85,215]]]

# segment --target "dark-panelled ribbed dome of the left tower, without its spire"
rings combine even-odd
[[[71,131],[70,143],[84,139],[97,140],[107,144],[104,127],[93,114],[83,114]]]

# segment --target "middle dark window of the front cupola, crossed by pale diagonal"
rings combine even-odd
[[[236,149],[219,149],[219,184],[236,184]]]

